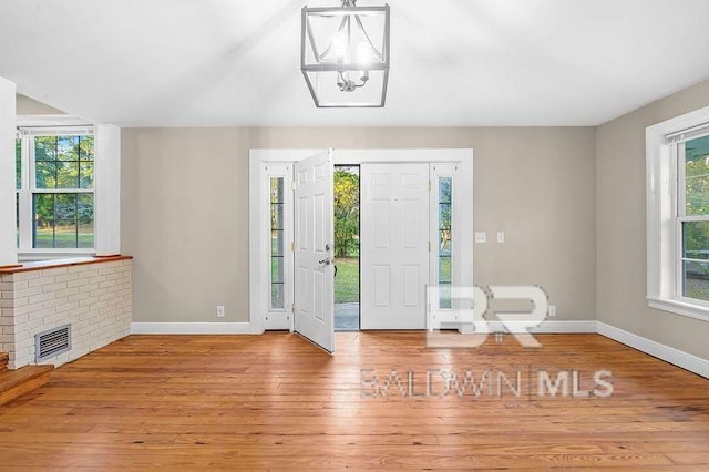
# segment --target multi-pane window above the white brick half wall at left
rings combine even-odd
[[[21,129],[16,141],[18,248],[94,248],[91,129]]]

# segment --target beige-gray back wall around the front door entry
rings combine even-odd
[[[538,284],[557,319],[596,319],[593,127],[201,127],[123,130],[133,320],[248,321],[248,151],[327,147],[474,148],[475,283]]]

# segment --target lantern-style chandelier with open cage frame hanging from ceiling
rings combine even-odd
[[[318,107],[384,106],[389,6],[302,8],[300,70]]]

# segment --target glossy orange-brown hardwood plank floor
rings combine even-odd
[[[709,380],[599,335],[537,339],[131,336],[0,408],[0,470],[708,470]]]

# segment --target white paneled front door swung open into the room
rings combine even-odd
[[[332,155],[296,163],[295,330],[335,352]]]

